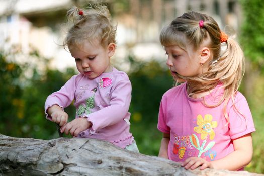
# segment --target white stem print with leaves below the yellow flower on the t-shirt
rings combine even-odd
[[[211,141],[205,147],[206,140],[204,140],[202,145],[200,146],[199,139],[198,139],[198,137],[195,134],[192,134],[190,136],[190,142],[197,150],[199,150],[198,157],[201,157],[202,153],[206,152],[207,150],[209,150],[210,148],[212,148],[215,145],[215,141]]]

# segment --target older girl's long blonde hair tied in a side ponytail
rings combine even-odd
[[[200,20],[204,21],[202,28],[199,26]],[[169,26],[164,27],[160,33],[160,42],[163,46],[177,44],[185,49],[191,45],[197,50],[204,41],[209,41],[207,47],[213,59],[209,62],[208,71],[196,77],[178,76],[187,81],[189,95],[210,91],[219,81],[223,82],[224,94],[221,100],[216,105],[208,105],[205,100],[203,104],[207,107],[216,107],[224,102],[223,114],[229,123],[226,106],[230,98],[234,110],[241,114],[235,107],[234,99],[244,75],[245,59],[239,44],[230,36],[226,41],[226,51],[221,53],[220,36],[221,30],[212,17],[192,11],[174,19]]]

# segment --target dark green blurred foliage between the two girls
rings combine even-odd
[[[141,153],[157,155],[162,137],[157,129],[159,104],[162,95],[173,86],[173,79],[161,61],[129,56],[128,62],[132,83],[131,132]]]

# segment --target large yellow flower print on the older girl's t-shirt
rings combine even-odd
[[[206,114],[203,116],[199,114],[197,116],[197,125],[194,127],[194,131],[201,134],[201,139],[206,139],[207,135],[209,134],[210,140],[213,140],[215,138],[215,131],[213,128],[217,127],[217,121],[212,121],[213,116],[211,114]]]

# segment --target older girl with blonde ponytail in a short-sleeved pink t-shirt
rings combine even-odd
[[[243,169],[252,158],[255,131],[238,92],[244,55],[238,43],[205,14],[185,13],[160,33],[176,82],[162,97],[159,156],[186,169]]]

